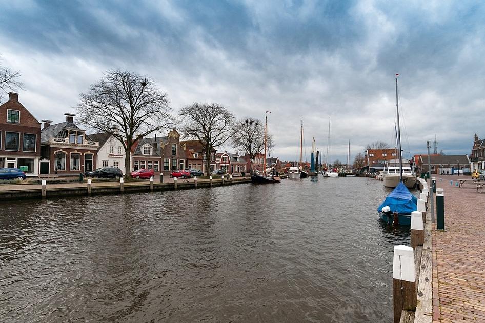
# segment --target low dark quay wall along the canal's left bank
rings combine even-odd
[[[175,188],[174,183],[161,183],[153,184],[153,191],[167,191],[167,190],[186,190],[195,188],[205,188],[205,187],[216,187],[216,186],[231,186],[235,184],[246,184],[251,183],[250,178],[234,178],[232,184],[230,180],[225,180],[224,184],[221,179],[213,179],[212,184],[210,181],[198,181],[197,186],[194,182],[180,182],[177,183],[177,188]],[[147,184],[130,184],[124,183],[123,191],[120,189],[120,185],[107,185],[107,186],[92,186],[91,194],[88,194],[87,184],[80,184],[76,187],[61,187],[61,188],[49,188],[46,187],[46,198],[51,197],[64,197],[64,196],[89,196],[89,195],[101,195],[101,194],[123,194],[123,193],[140,193],[140,192],[150,192],[151,185],[149,182]],[[22,190],[4,190],[0,191],[0,202],[8,201],[12,199],[25,199],[25,198],[42,198],[42,188],[34,189],[22,189]]]

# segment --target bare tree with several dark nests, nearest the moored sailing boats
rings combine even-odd
[[[234,123],[232,145],[238,151],[243,151],[253,159],[265,148],[265,125],[258,119],[247,117]],[[267,135],[266,146],[273,147],[273,137]]]

